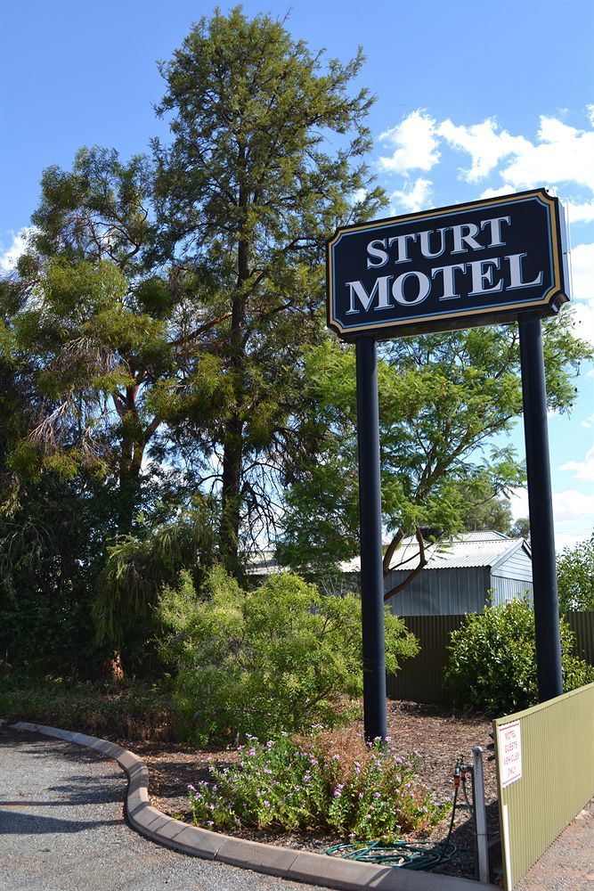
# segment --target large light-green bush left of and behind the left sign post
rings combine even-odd
[[[201,598],[183,572],[158,608],[169,630],[161,655],[175,661],[175,707],[199,745],[245,733],[299,732],[353,716],[362,693],[361,604],[321,596],[289,573],[245,592],[222,568]],[[403,620],[386,616],[387,670],[419,645]]]

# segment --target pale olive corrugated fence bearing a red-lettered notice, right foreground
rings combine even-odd
[[[498,718],[496,745],[497,728],[512,721],[520,724],[521,777],[502,788],[498,769],[497,780],[508,891],[594,795],[594,683]]]

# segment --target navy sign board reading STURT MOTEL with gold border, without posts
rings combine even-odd
[[[328,324],[387,339],[554,315],[564,233],[543,189],[345,226],[327,245]]]

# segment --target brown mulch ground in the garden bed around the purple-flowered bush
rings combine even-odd
[[[460,717],[449,709],[398,701],[388,706],[388,733],[395,742],[398,754],[420,753],[419,779],[440,802],[452,800],[456,760],[462,756],[467,764],[472,764],[473,747],[482,746],[485,751],[487,830],[489,838],[494,839],[499,833],[495,765],[486,757],[486,747],[492,741],[489,737],[491,730],[492,724],[484,718]],[[362,723],[355,723],[353,731],[362,736]],[[151,804],[163,813],[182,816],[187,822],[191,822],[188,786],[209,779],[209,762],[224,766],[239,760],[232,749],[204,750],[161,742],[127,742],[126,745],[141,756],[149,768]],[[435,828],[431,839],[437,842],[445,838],[448,825],[449,818]],[[237,834],[266,844],[318,852],[340,840],[320,834],[274,833],[270,830],[240,830]],[[414,838],[407,837],[407,840]],[[474,833],[467,810],[457,808],[452,842],[457,853],[451,862],[444,863],[436,871],[474,878]]]

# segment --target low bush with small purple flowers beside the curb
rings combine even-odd
[[[211,782],[190,787],[199,826],[322,830],[389,842],[428,830],[444,815],[419,784],[416,757],[397,756],[389,742],[344,748],[323,738],[283,736],[264,745],[252,737],[240,754],[239,766],[211,764]]]

